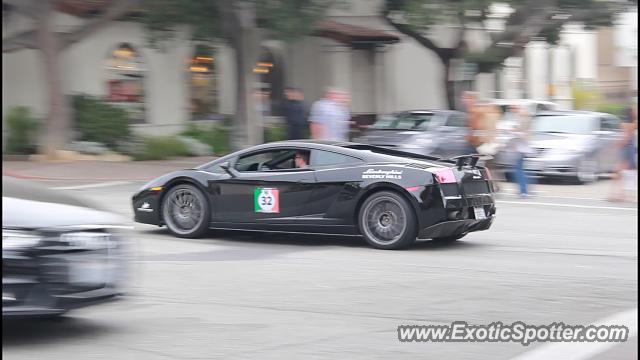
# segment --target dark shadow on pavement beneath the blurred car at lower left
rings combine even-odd
[[[47,345],[67,340],[95,339],[116,332],[111,326],[82,318],[23,318],[2,320],[2,347]]]

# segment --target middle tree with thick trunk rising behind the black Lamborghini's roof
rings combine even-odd
[[[333,1],[327,0],[144,0],[142,22],[152,44],[172,38],[177,25],[192,28],[194,41],[224,41],[236,60],[236,105],[232,146],[260,142],[261,127],[253,106],[253,73],[260,47],[258,29],[276,39],[307,35]]]

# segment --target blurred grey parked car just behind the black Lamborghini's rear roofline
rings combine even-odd
[[[453,157],[467,148],[467,118],[452,110],[412,110],[382,116],[354,142],[421,155]]]

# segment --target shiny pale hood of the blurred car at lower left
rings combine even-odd
[[[125,219],[96,209],[63,192],[2,178],[2,227],[55,228],[86,225],[120,225]]]

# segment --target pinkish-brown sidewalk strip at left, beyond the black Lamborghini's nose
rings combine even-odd
[[[193,168],[213,156],[154,161],[3,161],[2,175],[30,180],[147,181],[162,174]]]

